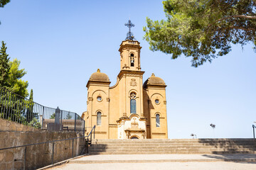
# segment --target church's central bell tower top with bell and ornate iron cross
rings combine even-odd
[[[134,27],[134,24],[129,20],[125,26],[129,28],[129,32],[127,33],[127,38],[122,41],[119,47],[121,61],[120,69],[140,71],[140,50],[142,47],[139,45],[139,42],[135,40],[134,35],[131,32],[131,28]]]

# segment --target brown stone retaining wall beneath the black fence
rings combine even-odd
[[[0,148],[82,136],[76,132],[48,132],[30,127],[24,128],[23,125],[16,124],[18,123],[0,119]],[[4,127],[8,127],[6,131],[3,131]],[[84,154],[85,140],[82,138],[76,139],[74,140],[74,145],[72,140],[55,142],[54,154],[53,143],[33,145],[26,148],[26,169],[38,169],[51,164],[52,155],[54,162],[60,162],[71,158],[72,152],[74,157]],[[0,150],[0,169],[23,169],[24,152],[25,147]]]

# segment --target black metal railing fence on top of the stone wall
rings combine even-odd
[[[85,132],[85,120],[77,113],[49,108],[0,86],[0,118],[42,130]]]

